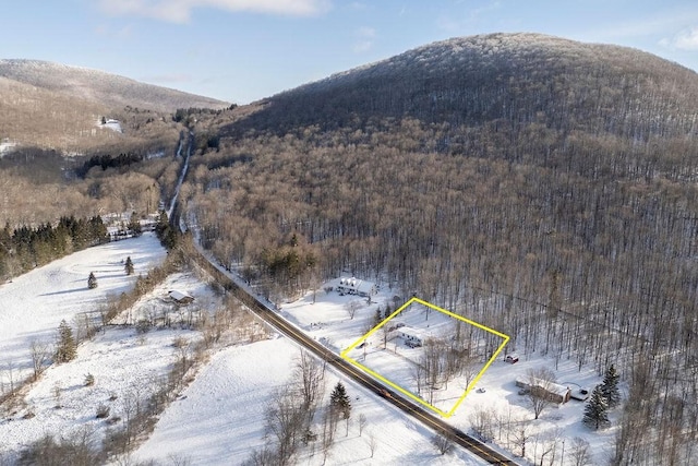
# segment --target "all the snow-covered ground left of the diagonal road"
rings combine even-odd
[[[92,248],[32,271],[0,287],[0,374],[8,386],[8,370],[14,381],[31,373],[32,340],[55,342],[61,320],[72,322],[91,312],[108,295],[133,286],[122,261],[131,256],[136,273],[160,263],[165,251],[151,235]],[[88,290],[87,275],[95,272],[99,286]],[[174,342],[192,342],[201,333],[181,328],[152,330],[145,334],[130,325],[144,318],[169,315],[186,319],[173,307],[168,291],[178,289],[196,297],[194,308],[213,312],[222,306],[204,283],[189,273],[170,275],[153,292],[92,340],[82,344],[77,357],[48,368],[23,393],[23,402],[0,416],[0,463],[13,464],[32,442],[52,434],[70,439],[89,432],[98,445],[109,429],[119,428],[134,409],[161,383],[178,358]],[[321,309],[320,307],[317,309]],[[240,464],[265,442],[264,410],[275,389],[288,383],[300,349],[282,337],[215,351],[195,380],[163,413],[152,437],[130,459],[156,459],[171,464],[189,459],[193,465]],[[3,367],[5,368],[3,370]],[[94,384],[86,384],[87,374]],[[340,378],[328,371],[325,404]],[[435,464],[478,465],[469,453],[457,450],[438,455],[431,445],[432,432],[360,386],[344,380],[352,401],[348,433],[342,421],[326,464]],[[108,409],[97,418],[98,409]],[[359,434],[359,417],[366,426]],[[374,452],[371,457],[371,439]],[[125,458],[119,458],[123,462]],[[322,464],[320,447],[301,447],[298,464]]]

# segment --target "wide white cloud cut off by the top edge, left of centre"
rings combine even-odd
[[[324,12],[328,0],[99,0],[99,5],[104,12],[112,15],[136,15],[186,23],[195,8],[310,16]]]

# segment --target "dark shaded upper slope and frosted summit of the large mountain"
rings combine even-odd
[[[497,33],[421,46],[258,104],[261,111],[228,133],[239,136],[254,128],[280,134],[313,124],[336,129],[351,120],[410,117],[450,126],[540,119],[563,131],[581,122],[624,138],[633,131],[639,138],[685,135],[697,128],[698,74],[633,48]],[[615,122],[621,110],[627,113],[624,128]],[[654,124],[658,118],[662,121]]]

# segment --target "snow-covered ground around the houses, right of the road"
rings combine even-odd
[[[312,294],[308,294],[298,301],[285,303],[280,311],[286,318],[294,322],[299,327],[306,331],[315,339],[325,344],[333,350],[339,353],[353,344],[358,338],[363,336],[372,326],[377,307],[385,308],[390,306],[392,310],[396,309],[393,292],[382,289],[377,296],[372,297],[372,303],[369,304],[365,298],[345,295],[340,296],[337,291],[325,289],[336,288],[338,280],[332,280],[325,284],[315,295],[313,303]],[[354,302],[354,304],[351,304]],[[401,304],[401,302],[400,302]],[[358,309],[353,318],[350,316],[350,309],[354,306]],[[433,335],[443,336],[443,332],[450,326],[445,314],[430,313],[430,325],[425,327],[425,315],[423,310],[414,309],[412,314],[400,315],[395,321],[401,321],[408,326],[423,327]],[[422,321],[422,324],[419,323]],[[453,322],[452,322],[453,323]],[[496,328],[495,328],[496,330]],[[364,363],[378,373],[386,377],[394,383],[416,393],[416,384],[413,371],[411,368],[416,360],[419,359],[420,348],[409,348],[399,337],[392,336],[387,348],[383,349],[383,336],[381,331],[369,339],[366,349],[366,359],[363,360],[363,348],[354,349],[351,354],[360,362]],[[533,411],[530,408],[527,397],[519,395],[519,387],[516,386],[516,379],[526,379],[530,370],[542,367],[553,369],[556,381],[561,384],[569,386],[573,391],[579,387],[593,389],[594,385],[601,383],[602,378],[595,373],[591,367],[582,367],[578,370],[576,361],[561,360],[557,368],[552,358],[547,358],[540,354],[522,355],[519,354],[520,360],[515,365],[504,362],[504,355],[515,348],[505,348],[501,357],[495,360],[488,369],[484,375],[478,381],[477,389],[470,392],[464,403],[455,411],[454,416],[448,418],[448,422],[468,431],[471,428],[473,418],[479,411],[488,411],[497,417],[501,425],[508,426],[500,429],[495,428],[493,443],[498,444],[502,449],[509,452],[509,456],[514,454],[520,455],[521,446],[518,437],[521,429],[526,430],[524,437],[530,435],[526,445],[527,459],[538,464],[542,461],[549,462],[551,456],[555,456],[555,464],[571,465],[574,464],[571,444],[575,438],[582,439],[589,443],[589,452],[592,453],[592,464],[607,463],[612,449],[612,441],[615,430],[609,428],[598,432],[589,430],[581,423],[585,403],[575,399],[564,405],[553,405],[544,410],[540,419],[533,419]],[[484,365],[484,360],[482,363]],[[448,387],[442,387],[434,393],[434,401],[441,402],[440,408],[448,408],[454,405],[460,395],[465,392],[467,382],[456,379],[449,382]],[[441,393],[440,393],[441,392]],[[615,422],[619,413],[612,411],[612,425]],[[497,425],[496,422],[493,422]],[[498,426],[498,425],[497,425]],[[507,431],[508,430],[508,431]],[[513,432],[518,430],[518,434]],[[553,450],[554,453],[550,450]],[[545,453],[547,452],[547,453]],[[561,459],[564,454],[564,459]]]

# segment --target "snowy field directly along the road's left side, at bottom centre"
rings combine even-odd
[[[257,342],[218,353],[161,417],[151,439],[133,459],[168,457],[193,465],[238,465],[265,440],[264,411],[274,389],[291,378],[299,349],[286,338]],[[339,379],[325,378],[325,405]],[[337,427],[327,465],[479,465],[467,452],[441,456],[430,443],[433,433],[371,392],[342,380],[352,403],[349,432]],[[357,399],[358,398],[358,399]],[[359,434],[358,418],[366,426]],[[375,439],[373,457],[370,442]],[[296,464],[322,465],[320,446],[301,447]]]

